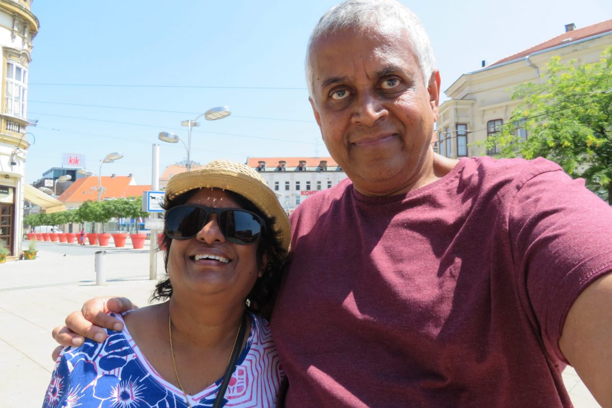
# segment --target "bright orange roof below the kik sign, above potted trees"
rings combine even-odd
[[[143,195],[143,191],[151,190],[151,185],[135,185],[133,177],[129,176],[102,176],[100,184],[105,188],[102,199],[104,198],[127,198]],[[76,179],[58,197],[62,202],[84,202],[96,200],[98,198],[98,177],[83,177]]]

